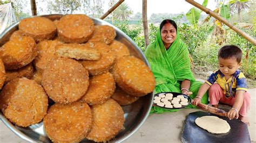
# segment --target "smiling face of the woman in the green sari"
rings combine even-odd
[[[164,45],[169,45],[170,47],[175,38],[176,29],[172,24],[166,23],[161,29],[161,39],[163,40]]]

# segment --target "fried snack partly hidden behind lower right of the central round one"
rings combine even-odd
[[[90,77],[88,90],[82,102],[89,105],[102,104],[107,101],[116,89],[116,82],[109,72]]]

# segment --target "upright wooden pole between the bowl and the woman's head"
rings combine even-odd
[[[147,0],[142,0],[142,23],[146,48],[149,45],[149,30],[147,28]]]

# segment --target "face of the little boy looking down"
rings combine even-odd
[[[231,76],[235,71],[240,68],[241,63],[235,59],[222,59],[219,58],[219,69],[225,76]]]

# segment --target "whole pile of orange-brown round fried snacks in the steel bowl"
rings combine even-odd
[[[124,124],[120,105],[154,89],[149,67],[114,40],[111,26],[65,15],[18,27],[0,49],[0,109],[18,126],[43,120],[53,142],[111,140]]]

